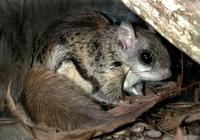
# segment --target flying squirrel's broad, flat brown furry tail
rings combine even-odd
[[[74,130],[91,128],[114,119],[63,75],[32,69],[25,81],[22,99],[37,124]]]

